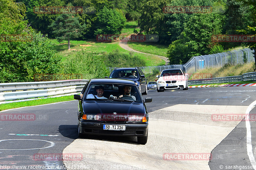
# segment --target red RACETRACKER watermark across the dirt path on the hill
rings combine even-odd
[[[112,42],[112,41],[121,41],[121,42],[157,42],[159,36],[157,34],[132,34],[128,37],[123,37],[117,34],[99,34],[96,36],[96,41],[99,42]]]

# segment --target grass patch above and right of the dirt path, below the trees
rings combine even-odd
[[[154,55],[161,55],[166,57],[168,46],[155,44],[153,42],[128,42],[129,47],[134,50],[154,54]]]

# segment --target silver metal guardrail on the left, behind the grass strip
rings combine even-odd
[[[18,102],[38,97],[60,96],[81,92],[88,80],[60,80],[44,82],[23,82],[23,83],[1,83],[0,104]],[[35,99],[35,100],[36,100]],[[9,102],[3,102],[13,100]]]

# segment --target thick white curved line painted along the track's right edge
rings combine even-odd
[[[245,116],[250,114],[250,111],[252,108],[256,105],[256,100],[253,101],[248,108],[246,109]],[[247,155],[250,159],[250,162],[253,166],[253,169],[256,170],[256,162],[252,153],[252,133],[251,133],[251,125],[250,120],[245,119],[245,125],[246,125],[246,146],[247,146]]]

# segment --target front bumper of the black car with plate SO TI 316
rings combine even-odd
[[[104,135],[104,136],[147,136],[148,122],[146,123],[103,123],[79,121],[80,133],[86,135]],[[103,130],[104,124],[125,125],[125,130]]]

